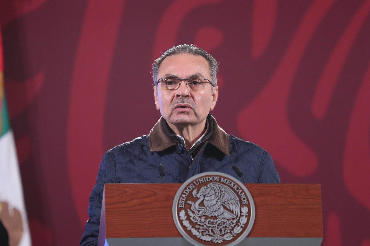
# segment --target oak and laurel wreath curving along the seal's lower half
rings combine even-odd
[[[244,227],[245,223],[247,222],[248,218],[248,207],[242,207],[241,209],[242,213],[239,218],[239,223],[237,226],[234,227],[231,233],[226,233],[224,236],[220,236],[216,238],[215,236],[208,236],[208,235],[202,235],[199,231],[197,231],[195,228],[192,227],[190,222],[186,220],[185,210],[181,210],[179,213],[180,219],[182,220],[182,224],[186,227],[187,230],[191,231],[191,233],[196,236],[199,239],[202,239],[203,241],[213,241],[215,243],[222,243],[223,240],[231,240],[236,236],[236,234],[240,233],[242,231],[242,228]]]

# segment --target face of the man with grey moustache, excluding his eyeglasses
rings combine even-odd
[[[158,78],[169,75],[181,79],[194,77],[211,80],[208,61],[200,55],[188,53],[166,57],[158,69]],[[157,110],[168,124],[185,127],[205,123],[209,111],[213,110],[218,97],[218,87],[212,92],[212,85],[205,83],[201,90],[191,91],[182,80],[176,90],[167,90],[161,83],[154,86],[154,100]]]

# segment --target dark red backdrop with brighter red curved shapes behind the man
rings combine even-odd
[[[219,125],[268,150],[282,183],[322,184],[323,245],[369,246],[369,13],[369,0],[0,0],[34,244],[79,242],[101,156],[160,116],[152,61],[186,43],[219,60]]]

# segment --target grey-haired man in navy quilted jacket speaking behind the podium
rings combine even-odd
[[[217,69],[215,58],[194,45],[174,46],[154,61],[154,100],[162,117],[149,135],[102,157],[80,245],[97,245],[104,184],[162,183],[159,165],[165,183],[183,183],[206,171],[244,183],[280,183],[266,150],[228,135],[210,114],[218,98]]]

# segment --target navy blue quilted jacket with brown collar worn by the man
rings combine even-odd
[[[123,143],[105,153],[90,195],[90,219],[86,222],[80,245],[97,245],[104,184],[162,183],[159,164],[165,168],[165,183],[183,183],[206,171],[219,171],[242,181],[232,170],[233,164],[242,170],[246,183],[280,183],[271,156],[266,150],[226,134],[218,127],[216,120],[209,117],[213,133],[194,159],[184,146],[178,145],[168,136],[162,117],[149,135]]]

